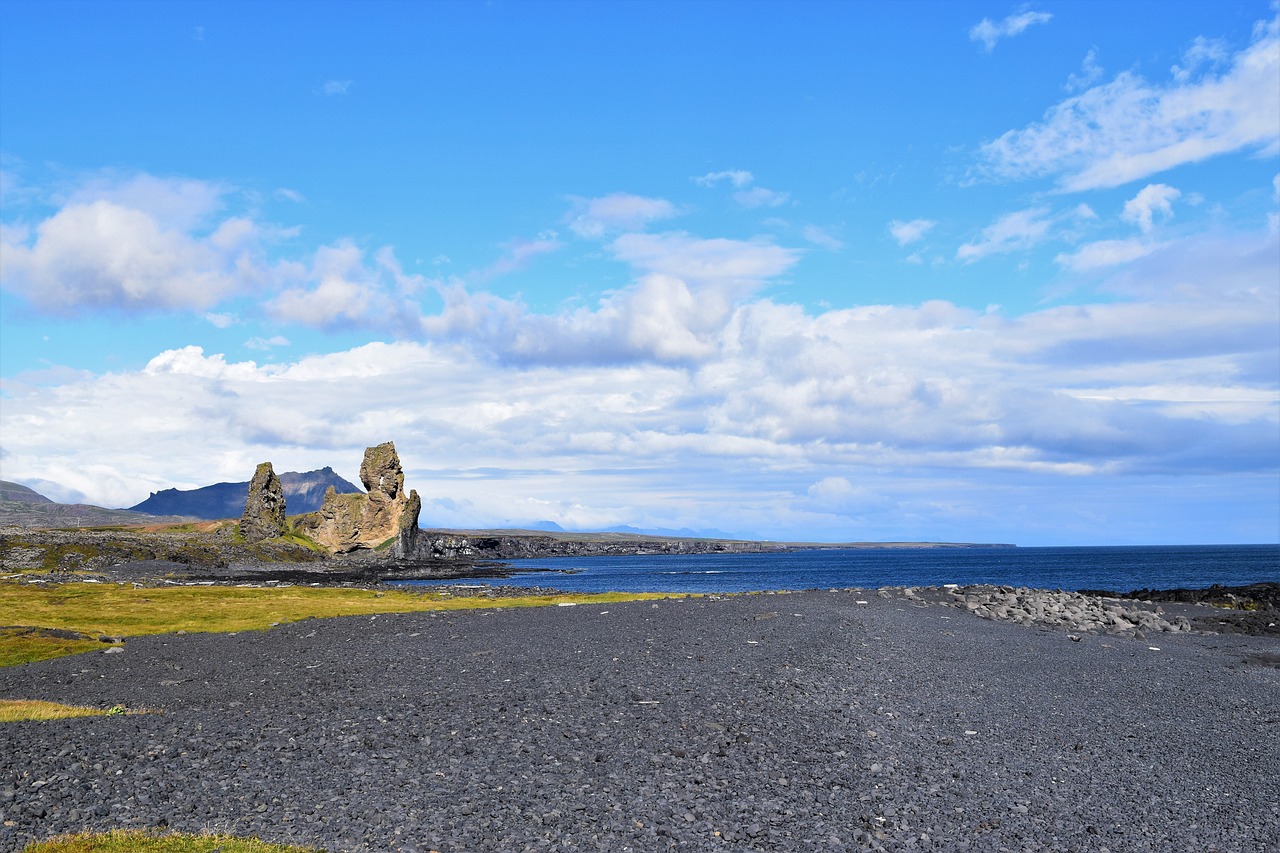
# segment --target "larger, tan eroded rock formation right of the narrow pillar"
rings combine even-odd
[[[333,553],[378,548],[388,542],[392,556],[412,553],[422,502],[417,492],[404,492],[404,471],[393,442],[365,451],[360,480],[366,494],[338,494],[330,487],[319,511],[298,517],[300,532]]]

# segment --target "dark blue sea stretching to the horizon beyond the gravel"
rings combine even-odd
[[[502,580],[566,592],[716,593],[832,587],[1005,584],[1170,589],[1280,581],[1280,544],[1092,548],[833,548],[777,553],[508,561]],[[430,583],[430,581],[416,581]]]

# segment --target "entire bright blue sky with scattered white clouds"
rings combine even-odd
[[[1272,3],[0,5],[0,476],[1280,540]]]

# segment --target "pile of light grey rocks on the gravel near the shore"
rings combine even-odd
[[[1189,631],[1185,616],[1167,620],[1157,606],[1123,607],[1116,599],[1097,598],[1074,592],[1028,589],[1025,587],[956,587],[943,588],[941,603],[961,607],[974,616],[1023,625],[1052,625],[1073,631],[1111,634],[1144,639],[1161,631]],[[902,594],[923,601],[910,587]]]

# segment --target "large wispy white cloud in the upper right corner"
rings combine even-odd
[[[1125,72],[982,147],[988,173],[1053,175],[1061,190],[1116,187],[1234,151],[1280,147],[1280,19],[1258,27],[1221,74],[1158,86]]]

